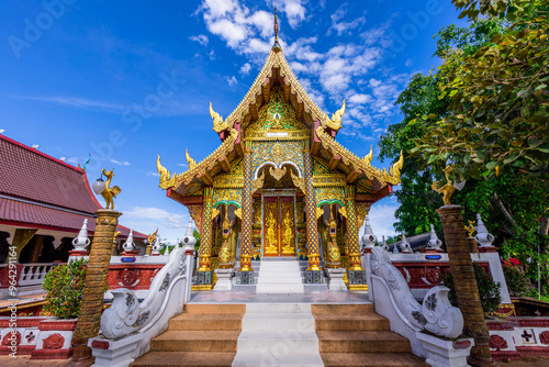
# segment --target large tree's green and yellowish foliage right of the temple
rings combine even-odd
[[[540,264],[547,287],[549,2],[452,2],[470,25],[435,35],[444,64],[412,77],[396,101],[403,121],[380,141],[381,158],[400,149],[407,158],[395,227],[408,234],[439,227],[441,200],[430,184],[455,163],[453,178],[468,180],[452,199],[466,220],[480,213],[502,255],[530,260],[533,280]]]

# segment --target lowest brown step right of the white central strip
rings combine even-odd
[[[429,366],[424,359],[413,354],[395,353],[323,353],[326,367],[371,366],[371,367],[416,367]]]

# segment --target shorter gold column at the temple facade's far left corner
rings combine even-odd
[[[212,257],[212,205],[213,188],[205,187],[203,191],[204,204],[202,210],[202,232],[200,233],[199,269],[197,271],[198,289],[212,289],[213,271]]]

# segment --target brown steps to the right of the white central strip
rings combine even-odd
[[[324,366],[428,366],[373,304],[312,304]]]

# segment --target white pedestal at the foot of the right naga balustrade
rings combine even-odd
[[[426,352],[425,362],[430,366],[436,367],[461,367],[469,366],[467,357],[470,354],[471,347],[474,345],[473,338],[461,338],[458,342],[452,342],[438,336],[433,336],[423,332],[416,332],[416,337],[422,341]],[[469,346],[456,348],[455,345],[466,344],[469,341]]]

